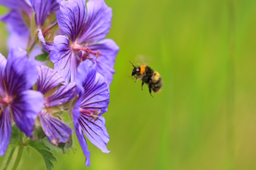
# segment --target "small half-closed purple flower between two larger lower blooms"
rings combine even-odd
[[[37,78],[36,90],[44,95],[44,107],[38,113],[44,133],[53,145],[66,143],[71,137],[71,128],[54,117],[51,107],[66,104],[75,95],[75,83],[69,83],[57,89],[57,86],[64,83],[62,76],[56,70],[47,66],[37,66],[39,76]],[[55,114],[57,116],[58,114]]]

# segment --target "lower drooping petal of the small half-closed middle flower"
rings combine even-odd
[[[67,143],[67,141],[69,141],[72,130],[67,124],[52,117],[43,110],[38,114],[38,117],[40,118],[40,123],[45,135],[47,135],[48,140],[53,145]]]

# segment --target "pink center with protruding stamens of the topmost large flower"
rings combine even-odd
[[[77,55],[78,53],[81,52],[80,62],[84,61],[86,58],[92,59],[92,56],[89,56],[90,53],[95,54],[95,56],[96,56],[97,59],[98,59],[99,53],[100,53],[99,50],[98,50],[98,52],[92,51],[92,50],[88,47],[88,44],[85,44],[85,46],[80,46],[79,44],[74,43],[74,44],[72,45],[72,49],[76,52],[75,55]]]

